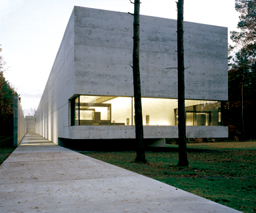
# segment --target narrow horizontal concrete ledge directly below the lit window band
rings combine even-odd
[[[178,138],[178,126],[143,126],[144,138]],[[227,126],[187,126],[187,138],[227,138]],[[69,126],[69,139],[135,138],[135,126]]]

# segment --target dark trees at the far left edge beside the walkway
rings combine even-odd
[[[0,52],[2,49],[0,48]],[[0,136],[13,135],[13,97],[19,96],[3,76],[5,61],[0,56]]]

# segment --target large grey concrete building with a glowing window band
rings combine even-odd
[[[141,15],[145,138],[177,138],[177,21]],[[184,22],[187,137],[227,137],[227,28]],[[74,7],[36,113],[36,132],[69,139],[135,138],[133,16]],[[161,144],[163,146],[164,144]]]

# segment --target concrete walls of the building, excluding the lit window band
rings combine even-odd
[[[167,69],[177,67],[177,21],[141,15],[140,29],[142,96],[177,99],[177,70]],[[185,98],[227,100],[227,28],[184,22],[184,30]],[[133,97],[132,37],[132,15],[74,7],[37,109],[36,132],[55,143],[90,134],[134,138],[134,126],[70,126],[69,103],[76,94]],[[145,138],[175,137],[177,126],[150,128]],[[203,126],[205,136],[213,128]]]

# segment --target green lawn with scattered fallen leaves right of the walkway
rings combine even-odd
[[[135,152],[81,153],[242,212],[256,212],[256,142],[187,146],[191,148],[188,152],[189,167],[176,166],[177,152],[146,152],[145,164],[134,161]]]

